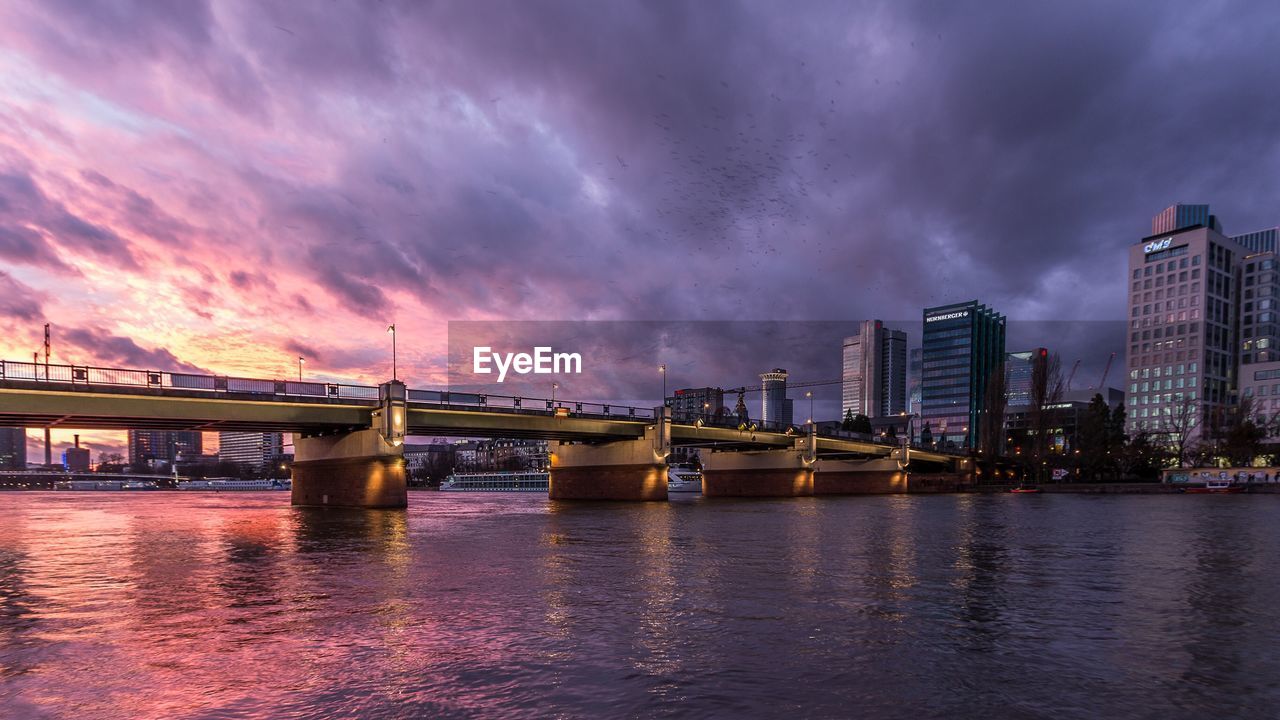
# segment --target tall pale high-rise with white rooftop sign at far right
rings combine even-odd
[[[1129,247],[1125,429],[1199,437],[1211,414],[1231,402],[1240,357],[1238,278],[1251,251],[1222,233],[1206,205],[1174,205],[1151,227]],[[1249,290],[1257,301],[1258,288]]]

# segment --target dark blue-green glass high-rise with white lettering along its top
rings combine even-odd
[[[978,447],[987,384],[1002,372],[1005,316],[977,300],[924,309],[920,424],[937,442]]]

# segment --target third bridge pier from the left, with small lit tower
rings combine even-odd
[[[705,497],[801,497],[813,495],[817,437],[813,430],[785,450],[703,454]]]

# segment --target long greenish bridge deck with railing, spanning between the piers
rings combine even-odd
[[[13,365],[13,364],[9,364]],[[32,364],[26,364],[36,368]],[[4,364],[0,364],[3,368]],[[73,368],[74,370],[74,368]],[[120,373],[134,373],[124,372]],[[142,372],[137,372],[142,373]],[[227,378],[191,375],[198,388],[174,387],[186,375],[142,373],[156,379],[137,383],[45,380],[13,374],[0,377],[0,425],[77,429],[244,430],[323,434],[369,428],[378,407],[376,388],[276,380],[228,382]],[[74,377],[74,375],[70,375]],[[248,384],[260,383],[260,384]],[[204,387],[207,386],[207,387]],[[260,387],[298,392],[246,392],[234,387]],[[218,388],[218,389],[214,389]],[[337,389],[335,389],[337,388]],[[370,393],[369,391],[374,391]],[[430,397],[434,402],[415,401]],[[463,404],[453,401],[462,400]],[[499,404],[504,402],[504,404]],[[529,407],[524,404],[527,402]],[[547,409],[541,405],[545,402]],[[553,406],[554,405],[554,406]],[[539,439],[609,441],[644,437],[654,420],[648,411],[627,406],[584,402],[552,404],[543,400],[410,391],[410,434],[454,437],[518,437]],[[652,415],[652,413],[648,413]],[[803,432],[803,429],[800,430]],[[795,445],[795,433],[673,423],[673,445],[764,450]],[[819,437],[824,456],[886,457],[896,446],[847,437]],[[913,460],[948,462],[954,456],[923,450]]]

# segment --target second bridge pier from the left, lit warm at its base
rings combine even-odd
[[[671,409],[654,407],[643,438],[552,448],[552,500],[667,500]]]

